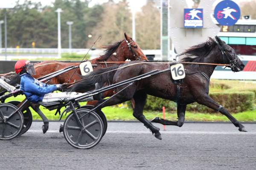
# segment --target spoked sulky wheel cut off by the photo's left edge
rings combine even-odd
[[[10,140],[20,134],[24,119],[23,114],[13,104],[0,104],[0,139]],[[10,116],[10,117],[9,117]]]

